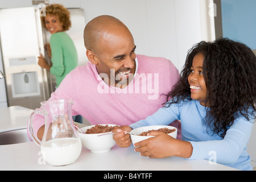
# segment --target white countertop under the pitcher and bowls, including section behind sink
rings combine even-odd
[[[13,106],[1,108],[0,132],[27,127],[32,110]],[[40,148],[34,142],[0,146],[0,170],[88,170],[88,171],[164,171],[164,170],[236,170],[207,160],[188,160],[177,157],[151,159],[139,155],[134,147],[115,145],[111,151],[93,154],[85,147],[77,161],[67,166],[55,167],[43,161]]]

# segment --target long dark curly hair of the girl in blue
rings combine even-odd
[[[167,94],[167,102],[192,100],[188,84],[193,57],[203,53],[203,73],[207,85],[207,115],[203,124],[212,134],[224,138],[238,114],[247,120],[256,113],[256,56],[245,44],[220,38],[212,43],[200,42],[189,51],[181,78]],[[168,102],[169,103],[169,102]]]

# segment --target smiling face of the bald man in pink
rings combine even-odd
[[[136,68],[135,48],[133,36],[130,33],[105,34],[103,36],[97,48],[98,64],[96,68],[99,74],[108,75],[109,80],[104,80],[106,83],[111,86],[129,84]]]

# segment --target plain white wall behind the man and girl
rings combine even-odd
[[[86,23],[98,15],[117,17],[133,34],[136,53],[166,57],[179,71],[188,49],[205,40],[200,9],[208,5],[201,6],[200,0],[81,1]]]

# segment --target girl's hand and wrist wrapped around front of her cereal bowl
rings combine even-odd
[[[180,156],[189,158],[192,155],[193,147],[190,142],[172,138],[161,131],[151,131],[150,136],[156,136],[135,143],[136,152],[150,158],[166,158],[168,156]]]

